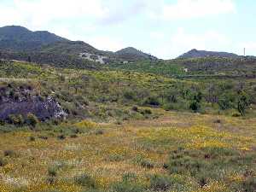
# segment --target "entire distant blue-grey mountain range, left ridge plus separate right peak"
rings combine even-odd
[[[92,62],[107,64],[110,62],[129,63],[158,60],[154,55],[146,54],[133,47],[120,49],[116,52],[103,51],[83,41],[71,41],[47,31],[32,32],[23,26],[0,27],[0,55],[2,58],[16,60],[27,60],[30,57],[30,60],[34,62],[53,62],[57,65],[64,65],[65,62],[76,62],[79,63],[80,67],[88,65],[88,63],[91,65]],[[189,52],[178,56],[177,59],[200,57],[237,59],[241,56],[227,52],[191,49]]]

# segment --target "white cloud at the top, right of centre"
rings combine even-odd
[[[150,12],[150,16],[160,20],[201,18],[236,12],[233,0],[177,0],[177,3],[161,3]]]

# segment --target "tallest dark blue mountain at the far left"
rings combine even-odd
[[[0,49],[32,50],[60,41],[67,39],[50,32],[32,32],[22,26],[0,27]]]

